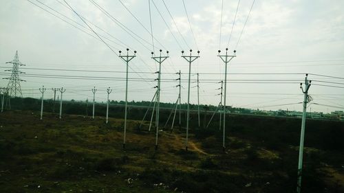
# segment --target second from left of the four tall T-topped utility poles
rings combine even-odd
[[[160,111],[160,91],[161,91],[161,87],[160,87],[160,80],[161,80],[161,64],[164,62],[164,60],[166,60],[167,58],[169,58],[169,51],[166,51],[167,56],[161,56],[161,52],[162,49],[160,49],[160,56],[153,56],[154,52],[151,52],[151,55],[153,58],[153,60],[155,60],[155,62],[159,63],[159,72],[158,72],[158,94],[156,95],[156,99],[157,99],[157,108],[156,108],[156,133],[155,133],[155,150],[158,149],[158,135],[159,135],[159,111]]]

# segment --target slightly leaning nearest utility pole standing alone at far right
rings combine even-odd
[[[302,83],[300,85],[300,88],[304,96],[303,96],[303,111],[302,111],[300,147],[299,147],[299,165],[297,167],[297,193],[301,192],[303,142],[305,140],[305,115],[306,115],[306,110],[307,110],[307,103],[309,102],[308,89],[310,89],[310,82],[312,82],[312,80],[308,80],[307,77],[308,77],[308,73],[305,74],[305,89],[303,89]]]

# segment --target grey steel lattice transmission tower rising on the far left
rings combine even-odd
[[[19,74],[24,73],[24,72],[19,71],[19,66],[25,66],[25,65],[23,65],[19,61],[18,51],[16,52],[14,59],[8,63],[13,65],[12,69],[5,70],[5,71],[12,71],[11,76],[9,78],[3,78],[3,79],[9,80],[8,84],[7,84],[8,95],[14,96],[14,97],[23,96],[23,94],[21,93],[20,82],[22,82],[22,81],[25,82],[25,80],[22,80],[21,78],[19,78]],[[8,64],[8,63],[6,63],[6,64]]]

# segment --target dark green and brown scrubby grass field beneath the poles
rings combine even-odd
[[[1,192],[295,192],[301,120],[230,117],[222,131],[36,111],[0,116]],[[344,192],[344,124],[308,122],[303,191]],[[331,144],[332,143],[332,144]]]

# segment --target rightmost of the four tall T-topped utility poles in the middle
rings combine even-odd
[[[221,50],[218,51],[219,53],[221,52]],[[222,139],[222,150],[226,150],[226,146],[225,146],[225,138],[226,138],[226,93],[227,93],[227,65],[230,62],[230,60],[232,60],[235,56],[235,51],[234,50],[234,55],[228,55],[228,48],[226,48],[226,55],[220,55],[218,54],[217,56],[219,56],[219,58],[221,58],[221,60],[224,62],[224,133],[223,133],[223,139]]]

